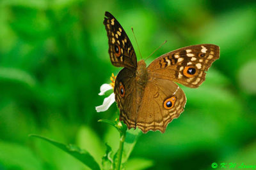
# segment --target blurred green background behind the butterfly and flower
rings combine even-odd
[[[130,169],[212,169],[212,162],[256,165],[256,2],[0,1],[0,169],[86,169],[40,134],[86,148],[100,162],[118,148],[116,104],[102,113],[100,85],[111,65],[104,12],[111,12],[143,57],[200,43],[220,46],[220,59],[198,89],[182,87],[185,111],[166,132],[142,134]]]

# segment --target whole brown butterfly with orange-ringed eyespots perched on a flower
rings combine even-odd
[[[147,67],[144,60],[137,62],[131,41],[116,18],[109,12],[105,16],[111,62],[124,67],[116,77],[114,89],[120,120],[129,129],[164,132],[186,104],[183,90],[173,81],[191,88],[201,85],[205,71],[219,59],[220,47],[186,46],[161,55]]]

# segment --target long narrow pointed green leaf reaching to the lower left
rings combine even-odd
[[[100,169],[99,164],[97,164],[92,155],[90,155],[90,153],[88,153],[86,150],[81,150],[81,148],[77,147],[76,145],[64,145],[57,141],[53,141],[52,139],[38,136],[36,134],[31,134],[29,136],[44,139],[45,141],[51,143],[52,145],[60,148],[61,150],[67,152],[76,159],[80,160],[81,162],[83,162],[84,165],[90,167],[91,169]]]

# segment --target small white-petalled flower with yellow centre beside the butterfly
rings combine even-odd
[[[113,90],[114,89],[114,85],[115,85],[115,76],[112,73],[112,76],[110,78],[110,80],[112,81],[112,83],[110,84],[106,84],[104,83],[103,85],[100,86],[100,93],[99,96],[102,96],[105,94],[105,92],[107,92],[108,90]],[[103,101],[103,104],[100,106],[96,106],[95,109],[97,112],[100,111],[106,111],[108,110],[108,108],[111,106],[111,104],[113,104],[115,102],[115,94],[114,92],[111,93],[108,97],[106,97]]]

